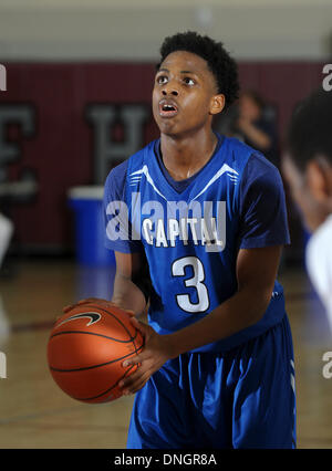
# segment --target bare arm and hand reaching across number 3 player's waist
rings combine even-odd
[[[226,338],[257,323],[271,300],[281,247],[242,249],[237,258],[238,291],[206,317],[169,335],[158,335],[133,320],[145,336],[145,349],[132,364],[139,369],[122,383],[125,394],[141,389],[165,362],[211,342]],[[129,364],[131,364],[129,363]]]

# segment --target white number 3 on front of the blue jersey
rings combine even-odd
[[[205,281],[205,271],[201,261],[197,257],[184,257],[177,259],[172,264],[173,276],[185,276],[185,268],[191,266],[194,275],[184,280],[185,286],[195,287],[197,292],[197,302],[193,303],[189,294],[177,294],[176,301],[179,307],[188,313],[204,312],[209,307],[209,294]]]

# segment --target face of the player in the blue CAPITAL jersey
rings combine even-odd
[[[162,134],[185,136],[210,128],[225,105],[207,62],[186,51],[168,54],[155,77],[153,114]]]

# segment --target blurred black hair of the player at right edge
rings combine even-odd
[[[331,92],[317,90],[295,106],[288,127],[287,150],[299,170],[304,171],[309,160],[318,155],[332,165],[331,123]]]

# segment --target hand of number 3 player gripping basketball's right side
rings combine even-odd
[[[131,323],[143,335],[145,345],[141,354],[123,363],[124,367],[141,364],[135,373],[120,381],[118,386],[123,388],[124,395],[137,393],[164,363],[173,358],[168,336],[157,334],[149,325],[135,317],[131,318]]]

